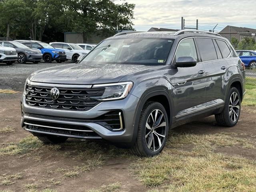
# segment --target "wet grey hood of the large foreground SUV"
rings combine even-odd
[[[30,75],[33,82],[60,84],[101,84],[118,82],[127,74],[156,66],[121,64],[69,64],[51,67]]]

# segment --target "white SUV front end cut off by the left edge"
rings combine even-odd
[[[0,63],[11,65],[17,60],[17,58],[18,55],[14,48],[2,47],[0,45]]]

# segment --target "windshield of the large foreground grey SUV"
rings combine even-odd
[[[173,42],[153,38],[104,40],[82,63],[165,65]]]

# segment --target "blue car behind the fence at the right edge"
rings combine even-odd
[[[250,69],[256,69],[256,51],[237,50],[236,53],[246,67],[250,67]]]

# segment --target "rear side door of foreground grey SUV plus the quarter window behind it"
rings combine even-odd
[[[231,50],[223,40],[196,38],[202,64],[206,74],[206,102],[209,106],[218,105],[225,100],[223,76],[228,68],[225,58]]]

